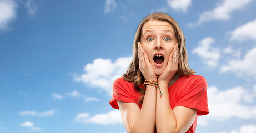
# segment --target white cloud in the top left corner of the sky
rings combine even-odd
[[[16,18],[17,4],[12,0],[0,0],[0,30],[8,28],[8,23]]]

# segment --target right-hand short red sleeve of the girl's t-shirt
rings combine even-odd
[[[209,113],[207,81],[202,76],[192,78],[175,106],[194,108],[198,110],[197,115],[207,115]]]

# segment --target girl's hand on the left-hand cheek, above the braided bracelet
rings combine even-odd
[[[142,44],[138,42],[139,70],[142,72],[145,80],[157,80],[154,68],[148,59],[147,53],[143,50]]]

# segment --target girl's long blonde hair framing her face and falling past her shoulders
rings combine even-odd
[[[153,13],[149,16],[145,17],[142,22],[140,22],[137,32],[135,33],[134,42],[133,42],[133,60],[130,63],[129,69],[127,70],[126,74],[123,75],[124,80],[133,82],[134,88],[141,93],[139,104],[142,104],[145,90],[139,88],[141,83],[144,83],[144,76],[142,75],[141,71],[139,70],[139,58],[138,58],[138,42],[140,42],[141,38],[141,30],[143,25],[151,20],[157,21],[164,21],[170,23],[173,26],[175,31],[175,37],[177,39],[177,43],[179,44],[179,69],[176,72],[179,76],[183,75],[193,75],[195,73],[194,70],[189,69],[188,66],[188,55],[187,50],[185,48],[185,37],[182,30],[179,27],[179,24],[165,13]]]

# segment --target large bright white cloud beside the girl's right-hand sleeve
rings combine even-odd
[[[212,86],[208,88],[209,114],[200,117],[198,124],[207,125],[209,120],[225,121],[230,117],[256,119],[256,106],[249,104],[253,103],[255,97],[256,91],[249,92],[241,86],[224,91]],[[248,105],[244,103],[248,103]]]

